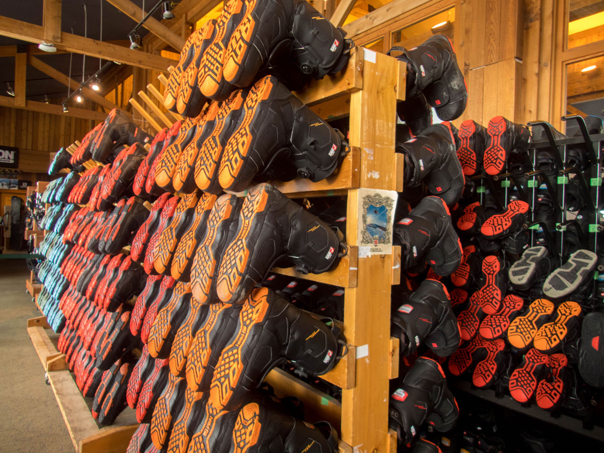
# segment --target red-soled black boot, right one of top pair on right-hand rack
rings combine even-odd
[[[525,151],[530,143],[530,131],[522,124],[512,123],[504,117],[491,118],[487,126],[484,171],[492,176],[503,172],[510,153]]]

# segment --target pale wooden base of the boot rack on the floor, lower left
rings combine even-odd
[[[125,452],[133,432],[138,428],[135,413],[126,408],[114,425],[100,428],[92,418],[87,400],[67,370],[65,355],[58,352],[48,334],[45,316],[27,321],[27,333],[42,362],[54,397],[65,420],[69,437],[77,453]],[[52,330],[50,330],[52,332]]]

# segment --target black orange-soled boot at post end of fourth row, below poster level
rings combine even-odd
[[[268,288],[255,289],[214,369],[210,402],[226,410],[240,407],[246,393],[286,359],[306,373],[327,373],[344,347],[339,334],[329,318],[318,320]]]

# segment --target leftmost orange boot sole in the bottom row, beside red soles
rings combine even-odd
[[[153,409],[151,419],[150,434],[155,448],[161,450],[169,440],[172,429],[172,420],[175,414],[178,414],[179,403],[182,400],[182,391],[184,387],[180,385],[184,382],[182,377],[170,377],[168,385],[159,396]],[[175,406],[172,406],[175,405]]]

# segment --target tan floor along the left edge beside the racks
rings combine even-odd
[[[25,292],[25,260],[0,259],[0,438],[3,453],[72,453],[74,446],[30,337],[40,316]]]

